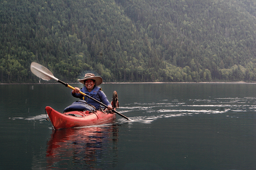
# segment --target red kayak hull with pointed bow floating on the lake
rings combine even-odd
[[[55,130],[110,123],[116,118],[116,114],[107,114],[102,111],[71,111],[60,113],[49,106],[45,107],[45,111]]]

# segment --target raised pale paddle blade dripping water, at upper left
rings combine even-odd
[[[31,63],[30,70],[34,75],[36,75],[37,77],[43,80],[49,81],[54,77],[53,73],[50,70],[48,70],[46,67],[36,62]]]

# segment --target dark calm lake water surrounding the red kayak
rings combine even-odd
[[[82,84],[70,84],[82,87]],[[256,84],[101,84],[110,124],[53,130],[45,107],[76,101],[62,84],[0,85],[0,169],[255,170]]]

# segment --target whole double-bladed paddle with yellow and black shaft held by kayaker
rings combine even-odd
[[[34,75],[36,75],[37,77],[39,77],[39,78],[41,78],[41,79],[43,79],[43,80],[49,81],[49,80],[53,79],[53,80],[55,80],[55,81],[57,81],[57,82],[59,82],[59,83],[65,85],[66,87],[69,87],[69,88],[71,88],[71,89],[73,89],[73,90],[75,89],[74,87],[70,86],[68,83],[64,83],[64,82],[60,81],[59,79],[57,79],[56,77],[54,77],[53,73],[52,73],[50,70],[48,70],[46,67],[42,66],[41,64],[38,64],[38,63],[36,63],[36,62],[32,62],[31,65],[30,65],[30,70],[31,70],[31,72],[32,72]],[[96,100],[96,99],[94,99],[94,98],[92,98],[92,97],[86,95],[86,94],[83,93],[82,91],[80,91],[80,94],[82,94],[82,95],[84,95],[84,96],[90,98],[91,100],[93,100],[93,101],[95,101],[95,102],[101,104],[102,106],[108,108],[107,105],[105,105],[105,104],[101,103],[100,101],[98,101],[98,100]],[[125,118],[125,119],[127,119],[127,120],[129,120],[129,121],[132,121],[130,118],[128,118],[128,117],[126,117],[126,116],[124,116],[124,115],[122,115],[122,114],[116,112],[114,109],[112,109],[112,112],[116,113],[116,114],[119,115],[119,116],[122,116],[123,118]]]

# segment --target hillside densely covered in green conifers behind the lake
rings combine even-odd
[[[0,83],[256,81],[255,0],[1,0]]]

